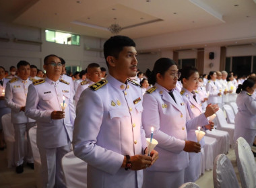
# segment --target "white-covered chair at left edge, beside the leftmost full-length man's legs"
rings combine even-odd
[[[7,167],[14,167],[14,128],[11,124],[11,113],[7,113],[2,116],[3,134],[5,136],[5,142],[7,147]]]

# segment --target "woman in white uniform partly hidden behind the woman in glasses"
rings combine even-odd
[[[181,83],[183,83],[181,95],[187,106],[189,118],[196,118],[203,112],[201,108],[200,97],[197,92],[197,87],[199,85],[199,73],[197,68],[192,66],[183,68],[181,70]],[[218,105],[214,105],[214,107],[218,107]],[[214,124],[212,124],[212,126],[204,126],[201,129],[212,130],[213,127]],[[197,129],[187,130],[187,140],[193,140],[194,142],[197,142],[195,130]],[[189,167],[185,169],[185,182],[195,182],[201,175],[201,158],[203,157],[203,146],[205,145],[204,138],[202,138],[199,143],[201,144],[201,152],[189,153]]]

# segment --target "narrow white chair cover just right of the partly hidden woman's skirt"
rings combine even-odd
[[[215,150],[217,141],[216,138],[209,136],[204,137],[205,145],[203,146],[205,153],[205,170],[210,171],[214,166]]]

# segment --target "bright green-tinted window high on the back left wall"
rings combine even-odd
[[[45,38],[48,42],[77,46],[80,45],[80,36],[75,34],[45,30]]]

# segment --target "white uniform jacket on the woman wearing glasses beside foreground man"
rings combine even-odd
[[[195,130],[208,121],[204,114],[190,120],[183,97],[177,90],[173,89],[175,103],[167,89],[158,83],[155,87],[155,91],[143,95],[142,124],[147,137],[150,137],[150,128],[154,127],[154,138],[158,140],[155,150],[159,158],[146,170],[181,171],[189,165],[189,154],[183,151],[187,130]]]

